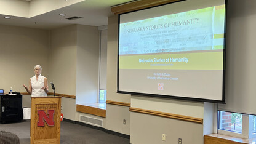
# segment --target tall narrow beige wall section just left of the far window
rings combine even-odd
[[[100,33],[96,26],[77,26],[76,103],[97,103]]]

